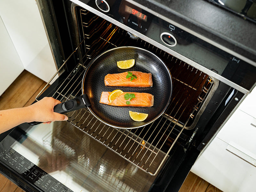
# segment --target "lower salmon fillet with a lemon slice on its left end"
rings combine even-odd
[[[108,96],[111,92],[102,92],[100,97],[100,103],[112,105],[112,106],[120,106],[120,107],[152,107],[154,105],[154,95],[149,93],[137,93],[137,92],[124,92],[111,103],[108,100]],[[124,95],[126,93],[133,93],[135,98],[132,100],[125,100]],[[127,105],[126,101],[130,101],[131,104]]]

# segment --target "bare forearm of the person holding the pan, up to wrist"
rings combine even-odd
[[[33,116],[28,107],[0,111],[0,133],[19,124],[32,122]]]

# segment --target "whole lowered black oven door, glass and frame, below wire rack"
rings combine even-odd
[[[63,76],[39,99],[55,92]],[[24,123],[0,139],[0,172],[25,191],[179,191],[199,154],[178,146],[150,175],[68,122]]]

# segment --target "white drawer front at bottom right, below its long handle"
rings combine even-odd
[[[213,139],[191,171],[224,192],[256,191],[256,167],[226,150],[229,147]]]

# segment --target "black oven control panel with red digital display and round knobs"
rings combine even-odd
[[[146,41],[150,44],[156,45],[157,47],[161,44],[161,46],[179,53],[246,89],[250,89],[252,86],[252,84],[247,85],[247,80],[243,80],[245,78],[244,74],[238,75],[239,78],[243,76],[240,80],[230,76],[230,74],[236,73],[236,68],[233,67],[234,61],[237,61],[235,66],[242,66],[245,70],[246,68],[252,68],[249,63],[206,42],[206,39],[204,40],[202,37],[199,38],[196,34],[189,33],[175,24],[160,18],[160,16],[158,17],[142,9],[140,6],[136,6],[125,0],[80,1],[85,2],[85,4],[98,12],[100,11],[105,14],[107,17],[104,19],[109,20],[113,24],[119,27],[122,27],[120,23],[128,26],[129,29],[125,29],[133,39],[140,38],[140,34],[142,34],[148,37]],[[86,7],[84,8],[86,9]],[[95,14],[98,14],[97,11]],[[134,30],[140,34],[135,33]],[[159,48],[161,48],[161,46]],[[253,71],[255,70],[256,68],[253,68]],[[244,82],[241,83],[242,81]]]

